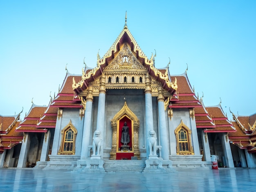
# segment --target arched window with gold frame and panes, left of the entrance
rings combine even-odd
[[[61,146],[58,151],[58,154],[75,154],[75,143],[76,143],[76,134],[77,130],[76,127],[71,123],[67,124],[61,130]]]

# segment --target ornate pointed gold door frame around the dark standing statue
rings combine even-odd
[[[111,127],[112,127],[112,148],[110,151],[110,159],[115,160],[117,158],[117,148],[119,143],[119,138],[117,134],[117,130],[119,130],[119,121],[124,117],[127,116],[130,118],[132,122],[132,130],[133,130],[133,136],[132,136],[132,149],[134,156],[137,157],[137,159],[140,159],[140,152],[139,152],[139,119],[137,116],[129,109],[129,107],[126,104],[126,101],[124,102],[124,106],[122,109],[115,114],[115,116],[111,120]]]

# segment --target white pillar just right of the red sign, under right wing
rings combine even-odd
[[[231,147],[229,144],[227,133],[221,133],[220,135],[221,135],[221,143],[222,143],[222,148],[223,148],[227,167],[232,168],[234,167],[234,162],[233,162]]]

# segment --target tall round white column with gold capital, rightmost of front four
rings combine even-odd
[[[164,109],[164,96],[162,87],[158,88],[158,119],[159,119],[159,134],[162,145],[162,158],[169,160],[169,145],[168,145],[168,132],[166,127],[165,109]]]

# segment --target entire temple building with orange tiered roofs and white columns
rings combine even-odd
[[[256,167],[256,114],[229,121],[184,74],[157,69],[127,25],[97,66],[68,71],[49,105],[0,116],[0,167],[166,172]]]

